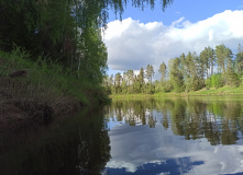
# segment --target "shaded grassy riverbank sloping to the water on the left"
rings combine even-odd
[[[60,65],[27,52],[0,51],[0,126],[18,126],[26,120],[48,121],[84,107],[107,101],[103,89],[77,78]]]

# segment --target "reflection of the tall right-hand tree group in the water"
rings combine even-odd
[[[207,103],[181,104],[180,106],[177,105],[176,109],[174,106],[169,110],[174,135],[185,136],[187,140],[207,138],[212,145],[235,144],[239,139],[239,132],[236,131],[239,126],[236,120],[232,118],[232,109],[229,109],[225,104],[221,105],[221,116],[219,116],[209,112],[210,104],[208,105]]]

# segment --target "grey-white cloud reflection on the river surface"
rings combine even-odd
[[[179,171],[184,170],[185,163],[188,164],[181,160],[189,158],[192,165],[184,170],[185,174],[243,172],[243,145],[212,147],[207,139],[185,140],[175,137],[172,130],[165,131],[162,127],[150,129],[147,126],[114,127],[110,140],[112,159],[107,168],[125,168],[125,172],[135,173],[147,164],[159,165],[174,160],[176,163],[172,168]],[[194,162],[200,164],[194,165]]]

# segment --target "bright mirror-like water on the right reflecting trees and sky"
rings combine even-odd
[[[113,101],[107,107],[107,174],[243,172],[243,101],[189,97]]]

